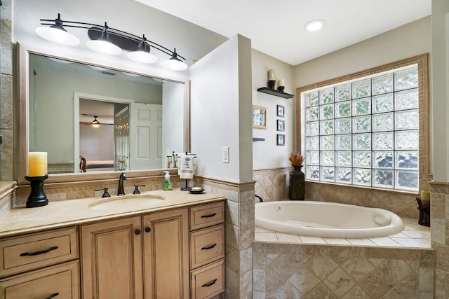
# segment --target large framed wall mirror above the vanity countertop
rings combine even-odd
[[[29,151],[48,153],[55,182],[140,176],[189,151],[187,80],[18,48],[19,183]]]

